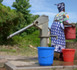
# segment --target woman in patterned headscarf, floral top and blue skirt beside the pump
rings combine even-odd
[[[65,49],[65,35],[64,35],[64,24],[68,23],[69,16],[65,12],[65,4],[56,4],[59,13],[55,16],[53,24],[51,26],[51,35],[56,35],[56,37],[51,37],[51,46],[55,47],[55,52],[60,53],[62,58],[62,49]],[[64,22],[64,23],[63,23]]]

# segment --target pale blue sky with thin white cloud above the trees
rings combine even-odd
[[[11,5],[15,0],[4,0],[2,4],[9,6],[11,9]],[[61,2],[65,3],[65,11],[69,15],[69,22],[77,22],[77,0],[30,0],[31,11],[30,13],[34,15],[47,15],[49,17],[49,27],[51,27],[54,16],[58,13],[57,6],[54,4],[58,4]]]

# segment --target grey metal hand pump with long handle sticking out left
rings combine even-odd
[[[38,27],[38,29],[40,30],[40,46],[41,47],[47,47],[47,38],[50,37],[50,35],[48,35],[48,16],[42,15],[39,18],[37,18],[32,24],[20,29],[19,31],[9,35],[7,37],[7,39],[25,31],[26,29],[35,26]],[[52,37],[52,36],[51,36]],[[57,37],[54,35],[54,37]]]

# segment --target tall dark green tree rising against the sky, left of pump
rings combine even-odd
[[[25,24],[30,24],[31,23],[31,15],[29,8],[31,5],[29,4],[29,0],[16,0],[13,5],[12,5],[17,12],[21,12],[23,17],[25,18],[26,22]]]

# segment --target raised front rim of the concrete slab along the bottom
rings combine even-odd
[[[73,70],[75,69],[75,65],[73,66],[24,66],[24,67],[16,67],[11,63],[6,63],[5,67],[7,70]],[[77,66],[76,66],[77,68]]]

